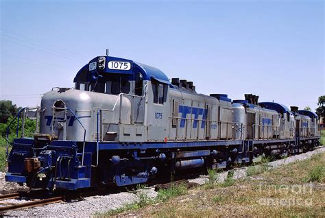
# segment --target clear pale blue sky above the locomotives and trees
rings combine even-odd
[[[0,99],[18,106],[107,48],[198,93],[312,109],[325,95],[323,1],[0,2]]]

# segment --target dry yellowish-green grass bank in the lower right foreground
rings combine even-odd
[[[212,182],[214,189],[190,189],[158,205],[134,210],[132,216],[325,217],[324,166],[325,153],[260,171],[258,178],[231,182],[229,173],[225,182]],[[210,178],[216,176],[209,171]]]

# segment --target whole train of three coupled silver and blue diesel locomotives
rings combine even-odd
[[[6,181],[51,190],[125,186],[319,144],[313,112],[258,103],[255,95],[232,101],[197,94],[193,82],[169,82],[132,60],[96,57],[74,83],[45,93],[40,108],[19,112],[17,119],[36,119],[37,128],[34,138],[23,130],[18,137],[17,129]]]

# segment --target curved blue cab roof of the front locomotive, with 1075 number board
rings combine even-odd
[[[99,57],[104,57],[105,58],[105,68],[104,69],[98,69],[98,58]],[[123,62],[123,63],[130,63],[130,69],[127,70],[122,70],[122,69],[109,69],[108,67],[108,62]],[[91,70],[90,64],[95,64],[95,68]],[[112,56],[97,56],[96,58],[93,58],[88,64],[84,65],[80,71],[77,72],[77,75],[75,75],[75,78],[73,82],[77,82],[77,77],[79,77],[84,71],[87,71],[87,74],[93,74],[95,75],[96,73],[120,73],[120,74],[134,74],[137,73],[138,71],[134,71],[134,69],[140,69],[141,73],[143,73],[144,80],[157,80],[158,82],[162,82],[165,84],[170,84],[167,75],[163,73],[163,71],[160,71],[160,69],[156,69],[153,66],[148,66],[146,64],[141,64],[139,62],[134,62],[132,60],[124,59],[124,58],[117,58],[117,57],[112,57]],[[91,78],[91,77],[87,77]],[[88,81],[87,82],[91,82]]]

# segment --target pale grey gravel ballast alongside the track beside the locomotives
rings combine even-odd
[[[269,162],[269,168],[277,168],[281,165],[287,165],[290,162],[296,162],[310,158],[314,154],[320,154],[325,152],[325,147],[320,147],[312,152],[307,152],[297,156],[290,156],[289,158],[275,160]],[[244,178],[247,175],[248,167],[241,167],[234,170],[234,179]],[[224,182],[227,178],[228,172],[217,173],[217,182]],[[195,182],[197,184],[204,184],[208,181],[208,176],[203,175],[200,178],[189,180],[189,182]],[[14,184],[8,184],[4,182],[4,173],[0,174],[0,190],[6,187],[6,190],[14,189]],[[27,208],[24,210],[13,210],[5,215],[18,216],[18,217],[90,217],[95,213],[104,213],[108,210],[117,209],[125,206],[125,204],[131,204],[139,200],[139,195],[145,192],[147,197],[156,197],[157,193],[154,188],[144,189],[136,191],[135,193],[121,192],[117,194],[110,194],[106,196],[92,196],[85,197],[79,202],[63,202],[57,204],[50,204],[47,206]]]

